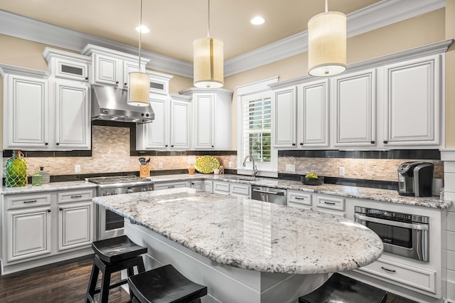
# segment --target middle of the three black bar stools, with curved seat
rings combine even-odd
[[[196,303],[207,294],[207,287],[184,277],[172,265],[128,277],[132,302]]]

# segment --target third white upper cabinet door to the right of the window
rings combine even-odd
[[[376,71],[333,79],[333,146],[375,147]]]

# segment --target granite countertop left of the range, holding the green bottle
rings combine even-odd
[[[64,191],[67,189],[82,189],[82,188],[95,188],[97,187],[94,183],[89,183],[86,181],[67,181],[67,182],[51,182],[48,184],[43,184],[41,186],[28,186],[21,187],[5,187],[1,188],[2,195],[12,195],[16,193],[39,193],[41,191]]]

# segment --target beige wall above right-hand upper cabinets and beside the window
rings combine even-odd
[[[384,28],[378,28],[375,31],[348,38],[348,63],[355,63],[380,55],[387,55],[400,50],[407,50],[444,40],[446,38],[444,36],[444,11],[444,9],[439,9]],[[454,27],[452,26],[452,28]],[[263,65],[253,70],[232,75],[225,78],[225,88],[235,91],[235,87],[239,85],[253,83],[273,76],[279,76],[279,80],[287,80],[306,75],[308,69],[307,60],[307,54],[302,53],[294,55],[291,58]],[[453,123],[455,124],[455,121]],[[237,95],[235,92],[232,100],[232,149],[237,149]]]

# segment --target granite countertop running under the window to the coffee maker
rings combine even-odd
[[[213,174],[176,174],[166,176],[153,176],[149,179],[155,182],[165,181],[183,181],[192,179],[212,179],[220,181],[229,181],[242,184],[251,184],[257,186],[269,186],[274,188],[291,189],[295,191],[305,191],[309,193],[324,193],[327,195],[343,196],[346,198],[358,198],[373,201],[382,201],[390,203],[407,204],[411,206],[422,206],[429,208],[449,208],[452,201],[440,201],[439,196],[431,197],[414,197],[414,196],[400,196],[397,191],[380,188],[368,188],[358,186],[343,186],[336,184],[322,184],[321,186],[309,186],[301,184],[299,181],[279,180],[272,178],[255,178],[254,180],[238,180],[235,179],[239,175],[213,175]],[[249,176],[243,176],[246,179],[252,179]]]

